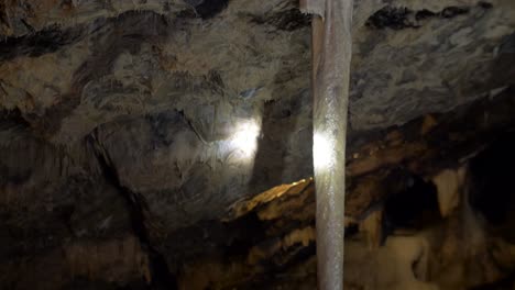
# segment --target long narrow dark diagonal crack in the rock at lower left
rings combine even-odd
[[[91,146],[106,181],[117,188],[127,201],[132,230],[140,239],[142,247],[147,249],[152,275],[151,288],[178,289],[176,278],[169,272],[166,259],[151,243],[150,233],[145,226],[145,216],[147,216],[149,213],[149,205],[144,197],[132,192],[120,182],[117,168],[113,166],[111,158],[106,153],[102,145],[99,144],[96,131],[87,137],[87,144]]]

